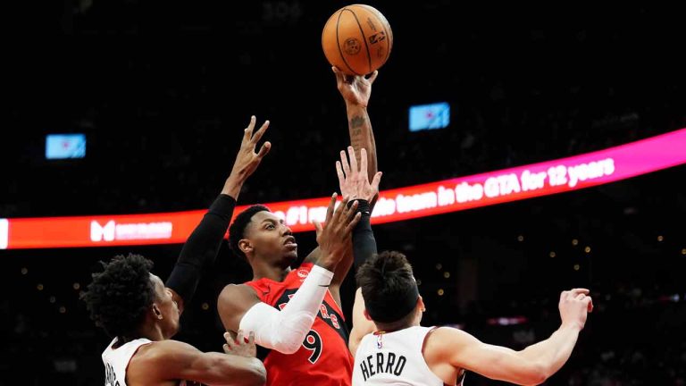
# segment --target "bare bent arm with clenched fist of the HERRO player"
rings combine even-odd
[[[588,293],[582,289],[562,292],[560,328],[547,340],[522,351],[482,343],[464,331],[442,327],[429,335],[424,358],[430,367],[448,363],[456,369],[470,370],[494,380],[540,384],[565,365],[572,354],[588,312],[593,308]]]

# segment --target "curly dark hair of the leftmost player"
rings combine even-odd
[[[90,318],[111,337],[131,336],[155,301],[150,280],[153,262],[140,255],[114,256],[100,262],[104,271],[93,273],[88,291],[81,295]]]

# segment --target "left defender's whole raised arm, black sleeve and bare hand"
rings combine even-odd
[[[171,290],[174,300],[178,303],[180,311],[193,298],[203,270],[214,264],[224,234],[229,228],[233,209],[236,206],[236,200],[243,183],[255,172],[264,155],[272,147],[270,142],[264,142],[259,152],[255,153],[255,147],[268,127],[269,121],[266,121],[253,135],[255,116],[250,118],[250,123],[244,131],[236,161],[229,178],[224,182],[222,193],[214,200],[209,211],[181,249],[179,260],[177,260],[165,283],[165,286]]]

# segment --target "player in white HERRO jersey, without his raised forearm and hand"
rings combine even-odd
[[[459,385],[464,371],[523,385],[545,382],[572,354],[593,303],[589,290],[560,295],[562,324],[548,340],[515,351],[454,328],[420,326],[425,311],[412,266],[399,252],[369,258],[357,272],[349,348],[353,386]]]

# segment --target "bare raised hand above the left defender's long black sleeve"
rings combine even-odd
[[[222,190],[223,194],[227,194],[235,199],[238,199],[238,193],[243,186],[243,182],[255,172],[257,166],[262,162],[264,155],[267,155],[272,148],[272,143],[266,141],[262,147],[260,147],[260,150],[255,152],[257,143],[264,135],[264,131],[269,127],[269,121],[264,121],[260,129],[253,134],[253,131],[255,130],[255,121],[255,115],[250,117],[250,123],[247,125],[246,130],[244,130],[243,140],[240,143],[236,161],[233,164],[231,174],[226,180],[224,189]]]

